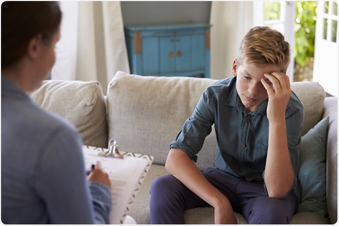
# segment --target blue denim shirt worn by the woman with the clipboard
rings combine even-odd
[[[104,224],[110,209],[109,187],[86,181],[76,129],[2,77],[2,222]]]

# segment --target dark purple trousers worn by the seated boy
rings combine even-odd
[[[298,198],[293,192],[284,199],[269,198],[262,181],[247,182],[214,168],[206,169],[204,175],[249,224],[288,224],[297,211]],[[183,210],[207,206],[210,205],[172,175],[152,182],[151,224],[184,224]]]

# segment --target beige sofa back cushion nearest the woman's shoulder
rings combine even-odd
[[[100,83],[48,80],[30,96],[41,108],[69,120],[85,145],[107,147],[106,106]]]

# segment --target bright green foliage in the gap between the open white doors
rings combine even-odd
[[[296,2],[294,59],[304,67],[314,57],[316,1]]]

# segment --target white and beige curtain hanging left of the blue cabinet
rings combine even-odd
[[[61,1],[61,38],[53,80],[99,81],[107,85],[118,70],[129,73],[119,1]]]

